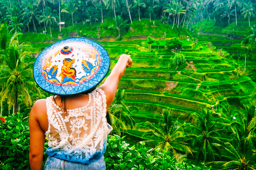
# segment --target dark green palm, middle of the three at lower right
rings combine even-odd
[[[214,121],[211,117],[209,110],[205,111],[202,109],[201,114],[197,114],[196,125],[190,124],[189,131],[194,134],[193,137],[196,138],[195,144],[198,147],[196,154],[196,162],[198,164],[200,157],[203,157],[204,166],[205,160],[211,159],[214,161],[214,151],[220,153],[218,146],[221,146],[223,142],[219,139],[220,134],[215,129],[217,121]]]

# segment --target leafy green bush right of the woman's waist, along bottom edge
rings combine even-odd
[[[104,154],[106,169],[108,170],[163,170],[163,169],[184,169],[200,170],[201,167],[188,165],[185,162],[176,162],[175,157],[164,153],[159,148],[148,149],[144,142],[136,148],[129,146],[117,135],[108,136],[108,146]],[[211,169],[211,168],[207,168]]]

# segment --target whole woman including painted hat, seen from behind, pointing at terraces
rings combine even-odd
[[[63,48],[66,45],[73,46]],[[73,48],[79,48],[80,53],[74,53]],[[107,51],[97,42],[69,38],[56,42],[47,50],[48,53],[37,57],[33,74],[39,87],[54,96],[36,101],[29,115],[31,170],[43,168],[46,137],[49,139],[46,150],[49,157],[44,170],[106,170],[103,154],[107,135],[113,129],[106,120],[107,110],[115,98],[125,68],[132,66],[132,59],[130,55],[120,55],[105,82],[97,87],[110,66]],[[88,71],[82,65],[83,58],[92,57],[94,52],[97,53],[95,66]],[[70,63],[67,58],[74,59],[74,62]],[[49,66],[42,71],[41,67],[49,59]],[[76,81],[59,81],[63,66],[67,69],[71,65],[77,71],[77,74],[72,73]],[[55,69],[54,74],[57,72],[54,78],[51,68]]]

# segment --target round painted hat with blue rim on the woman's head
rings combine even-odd
[[[33,75],[44,91],[72,95],[92,91],[107,75],[108,52],[97,42],[68,38],[44,49],[37,57]]]

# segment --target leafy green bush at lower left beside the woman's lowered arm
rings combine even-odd
[[[0,169],[29,170],[28,117],[24,117],[23,113],[9,115],[5,123],[0,123],[0,139]]]

